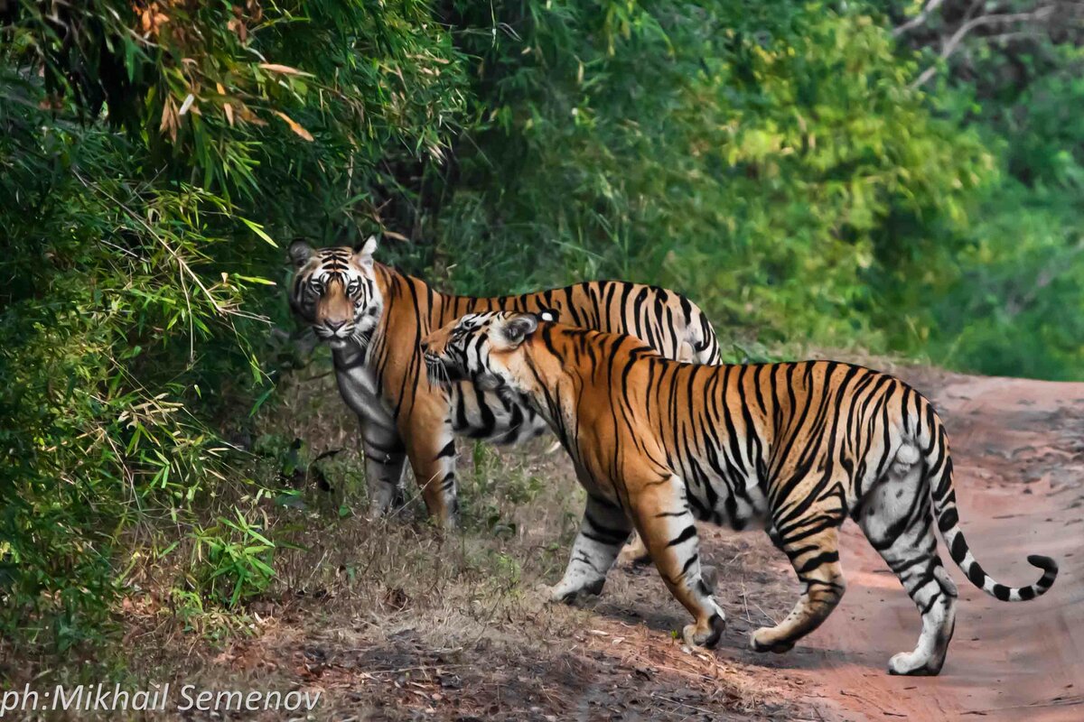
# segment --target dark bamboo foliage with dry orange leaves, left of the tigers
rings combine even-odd
[[[244,522],[251,460],[223,437],[276,373],[275,238],[378,225],[465,100],[413,0],[9,5],[0,628],[65,646],[122,591],[120,547],[163,523],[199,595],[267,586],[278,542]]]

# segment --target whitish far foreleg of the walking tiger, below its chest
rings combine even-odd
[[[551,601],[571,602],[581,594],[602,593],[606,574],[631,529],[632,524],[620,507],[602,497],[589,496],[565,576],[547,589]]]

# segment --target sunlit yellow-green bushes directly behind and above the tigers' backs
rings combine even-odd
[[[522,37],[489,51],[500,105],[441,233],[449,255],[505,249],[463,272],[472,290],[633,277],[689,291],[724,328],[876,344],[868,270],[894,263],[893,218],[960,222],[992,176],[861,11],[504,8]]]

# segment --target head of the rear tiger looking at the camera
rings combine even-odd
[[[384,298],[373,274],[376,237],[360,250],[312,248],[304,240],[289,245],[294,281],[289,306],[333,349],[361,343],[379,323]]]

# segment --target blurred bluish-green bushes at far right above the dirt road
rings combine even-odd
[[[978,128],[999,156],[1001,183],[976,197],[966,227],[928,224],[937,263],[889,296],[906,310],[892,344],[922,349],[956,368],[1042,379],[1081,379],[1084,369],[1084,49],[1059,27],[1010,44],[976,41],[967,73],[946,77],[935,97],[957,123]],[[965,61],[960,61],[965,62]],[[912,264],[913,265],[913,264]]]

